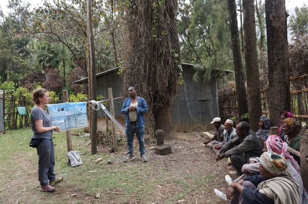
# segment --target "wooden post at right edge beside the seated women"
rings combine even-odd
[[[308,140],[300,140],[300,175],[303,179],[303,185],[308,192]]]

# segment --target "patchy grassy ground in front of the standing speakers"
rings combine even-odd
[[[82,129],[72,132],[82,132]],[[220,166],[203,164],[208,160],[205,153],[210,153],[204,153],[208,151],[204,147],[196,150],[191,146],[187,151],[180,151],[177,148],[183,148],[183,140],[179,140],[172,145],[175,153],[170,155],[179,154],[180,159],[156,155],[147,150],[152,154],[148,163],[142,163],[138,156],[138,160],[124,163],[123,152],[127,152],[124,145],[119,147],[119,153],[110,154],[108,147],[100,147],[98,154],[91,155],[89,137],[79,135],[72,137],[72,144],[74,150],[85,153],[82,155],[84,164],[71,168],[66,162],[65,131],[53,133],[55,173],[63,176],[64,180],[56,185],[56,192],[41,192],[37,180],[36,149],[28,145],[31,136],[30,128],[0,134],[0,203],[222,203],[212,191],[215,186],[218,188],[217,180],[224,183],[224,175],[217,177],[222,171]],[[200,138],[195,139],[201,144]],[[191,144],[186,135],[184,140]],[[193,155],[191,159],[183,156],[183,163],[179,161],[181,152],[190,155],[189,151],[201,152],[201,156]],[[95,163],[98,158],[103,160]],[[107,164],[109,160],[111,165]],[[216,162],[213,164],[216,165]],[[203,172],[203,165],[213,167],[218,172]],[[210,193],[207,187],[210,187]]]

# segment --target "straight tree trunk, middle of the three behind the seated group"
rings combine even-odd
[[[262,109],[254,0],[243,0],[243,15],[249,126],[256,132],[259,129],[258,124]]]

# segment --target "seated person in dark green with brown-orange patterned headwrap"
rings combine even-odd
[[[296,122],[294,118],[286,118],[282,121],[281,130],[284,135],[287,135],[287,137],[285,137],[285,142],[288,144],[288,146],[296,151],[300,151],[299,140],[305,139],[305,137],[298,134],[301,130],[301,126],[298,124],[298,122]],[[300,157],[293,153],[291,153],[291,155],[300,166]]]

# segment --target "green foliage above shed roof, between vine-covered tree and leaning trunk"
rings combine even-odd
[[[181,0],[177,27],[182,62],[212,69],[232,69],[230,28],[224,0]],[[208,73],[207,73],[208,75]]]

